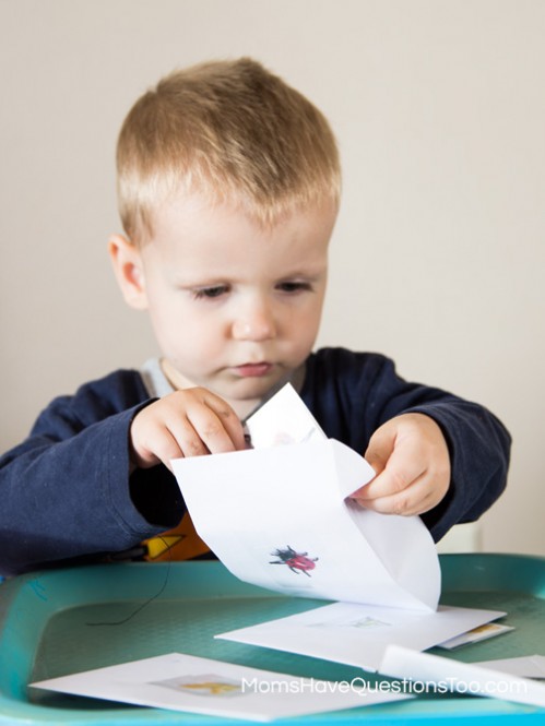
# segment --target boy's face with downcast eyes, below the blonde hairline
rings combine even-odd
[[[311,209],[263,229],[196,195],[159,210],[152,239],[132,248],[126,299],[150,311],[177,388],[208,388],[244,417],[301,367],[320,324],[334,221],[332,206]]]

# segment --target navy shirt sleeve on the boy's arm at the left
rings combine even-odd
[[[132,379],[118,379],[55,400],[29,437],[1,457],[2,574],[128,549],[179,520],[179,490],[154,469],[139,489],[147,479],[162,495],[165,520],[157,521],[156,505],[149,519],[142,497],[131,497],[129,428],[150,402],[132,391]]]

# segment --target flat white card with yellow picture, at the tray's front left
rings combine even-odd
[[[299,678],[180,653],[31,686],[142,706],[262,722],[407,698],[366,692],[360,679],[334,682]]]

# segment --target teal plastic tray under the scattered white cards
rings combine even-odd
[[[454,652],[467,663],[545,654],[545,559],[445,555],[441,602],[508,612],[513,631]],[[323,602],[240,582],[220,562],[105,564],[21,575],[0,585],[0,724],[233,724],[28,688],[35,680],[179,652],[294,676],[351,680],[357,668],[214,640],[216,633]],[[372,677],[366,679],[372,682]],[[283,719],[370,726],[545,724],[545,710],[495,699],[427,694],[411,701]]]

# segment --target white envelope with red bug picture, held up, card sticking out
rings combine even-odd
[[[248,429],[265,448],[173,461],[197,532],[236,576],[289,595],[436,609],[439,561],[423,522],[347,499],[374,469],[325,439],[291,386]],[[273,445],[286,440],[303,443]]]

